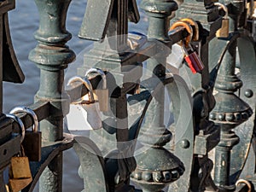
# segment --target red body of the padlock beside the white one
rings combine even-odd
[[[201,73],[204,68],[203,62],[195,51],[185,56],[185,61],[187,61],[192,73]]]

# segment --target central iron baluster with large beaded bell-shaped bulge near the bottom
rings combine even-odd
[[[149,17],[148,38],[170,43],[168,16],[177,9],[177,3],[172,0],[143,0],[141,8]],[[158,54],[147,61],[147,71],[152,76],[151,86],[160,85],[157,86],[157,93],[148,107],[141,136],[138,137],[138,140],[148,148],[137,154],[137,169],[131,175],[132,181],[145,192],[161,191],[183,174],[183,163],[164,148],[166,143],[170,142],[172,133],[166,130],[164,125],[165,86],[161,83],[166,77],[166,57],[170,54],[170,49],[167,45],[162,46],[159,47]]]

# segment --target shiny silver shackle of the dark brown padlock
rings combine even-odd
[[[28,108],[26,106],[18,106],[13,108],[9,113],[28,113],[30,116],[32,116],[33,119],[32,131],[38,132],[38,116],[31,108]]]

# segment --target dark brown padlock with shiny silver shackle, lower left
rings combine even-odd
[[[23,140],[25,154],[30,161],[41,160],[42,133],[38,131],[38,117],[31,108],[19,106],[13,108],[10,113],[28,113],[33,119],[32,131],[26,131]]]

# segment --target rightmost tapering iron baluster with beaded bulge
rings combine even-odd
[[[235,74],[235,61],[236,42],[230,44],[229,51],[224,55],[216,82],[217,105],[210,116],[221,127],[220,143],[216,148],[214,180],[225,189],[228,189],[230,185],[230,151],[239,143],[239,137],[233,129],[246,121],[253,113],[247,103],[235,95],[236,90],[242,85],[241,80]]]

